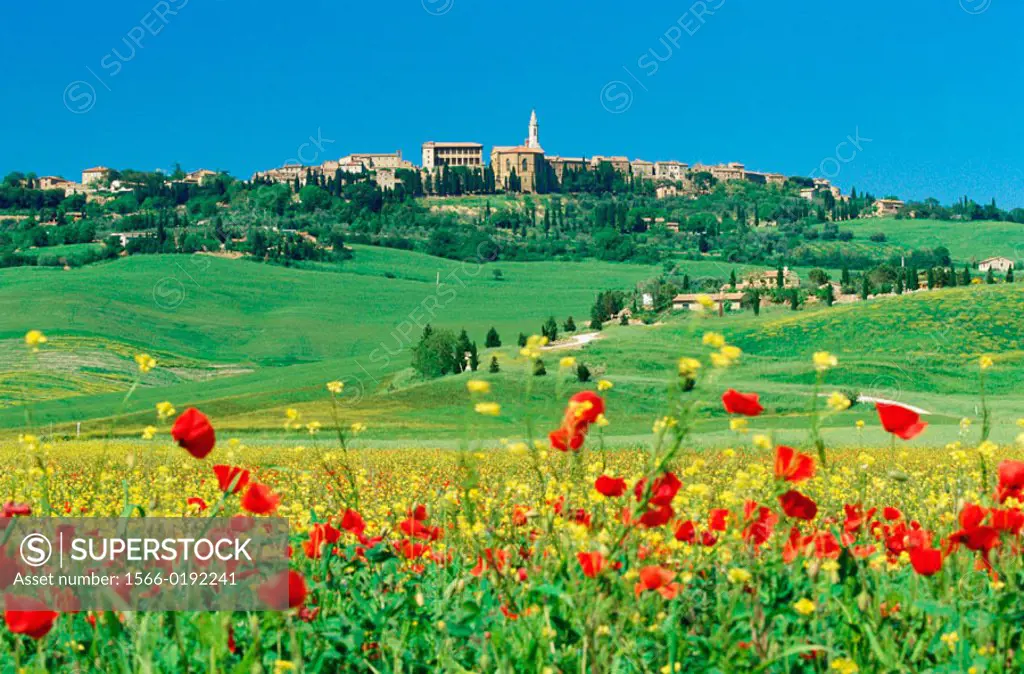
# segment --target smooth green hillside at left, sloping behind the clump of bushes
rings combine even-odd
[[[601,290],[659,272],[598,262],[481,266],[361,247],[341,268],[178,255],[0,270],[0,407],[40,401],[41,423],[108,415],[139,351],[165,367],[146,377],[130,411],[220,399],[224,411],[246,412],[318,395],[336,378],[373,390],[409,366],[423,324],[464,327],[481,346],[495,326],[514,343],[549,315],[583,320]],[[20,343],[30,329],[50,338],[34,357]],[[23,421],[23,411],[0,410],[0,426]]]

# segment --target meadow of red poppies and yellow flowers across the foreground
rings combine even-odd
[[[30,348],[45,348],[30,333]],[[543,338],[520,357],[526,381]],[[4,614],[3,671],[1019,672],[1024,462],[987,439],[986,371],[964,441],[928,450],[927,418],[879,403],[886,447],[833,450],[850,405],[816,375],[807,440],[760,432],[763,401],[729,387],[743,357],[715,333],[681,354],[650,441],[603,441],[614,379],[560,389],[561,422],[500,447],[502,415],[466,380],[458,450],[372,450],[325,382],[332,418],[288,410],[295,441],[253,446],[217,420],[158,406],[133,440],[0,446],[5,517],[275,515],[291,525],[284,612]],[[566,356],[561,371],[571,369]],[[159,367],[136,359],[139,374]],[[561,374],[559,375],[561,376]],[[527,384],[528,385],[528,384]],[[129,391],[130,395],[130,391]],[[732,448],[688,447],[708,402]],[[970,420],[965,420],[970,428]],[[976,432],[975,432],[976,431]],[[855,432],[851,429],[851,432]],[[970,441],[968,438],[972,438]],[[0,558],[10,589],[17,561]]]

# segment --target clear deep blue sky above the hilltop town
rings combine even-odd
[[[1017,0],[7,3],[0,172],[419,163],[425,140],[520,142],[536,108],[548,154],[1024,206],[1022,19]]]

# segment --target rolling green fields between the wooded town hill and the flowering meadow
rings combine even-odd
[[[681,261],[688,273],[727,276],[732,265]],[[502,270],[496,280],[495,268]],[[744,268],[735,266],[737,273]],[[1024,287],[975,286],[883,298],[799,312],[770,307],[698,318],[667,315],[654,326],[608,326],[579,350],[545,356],[549,376],[534,378],[525,395],[516,336],[539,332],[551,314],[572,314],[583,327],[597,292],[629,289],[657,276],[659,267],[599,262],[500,262],[489,265],[419,253],[356,247],[340,270],[309,271],[211,256],[138,256],[73,271],[19,267],[0,271],[0,428],[24,427],[31,412],[37,428],[57,430],[101,420],[120,410],[133,377],[131,356],[155,355],[161,367],[145,375],[122,420],[124,432],[153,421],[156,403],[179,409],[202,405],[219,427],[253,440],[283,436],[284,410],[325,424],[331,411],[324,383],[346,383],[346,421],[368,424],[370,444],[453,444],[465,425],[468,375],[421,381],[409,368],[421,325],[465,327],[482,347],[495,326],[505,345],[483,351],[486,369],[497,355],[502,372],[478,373],[494,383],[504,413],[486,419],[490,439],[513,436],[535,411],[539,427],[556,422],[558,405],[575,382],[557,375],[571,353],[594,379],[615,382],[610,392],[609,436],[639,441],[664,409],[675,362],[700,352],[706,330],[724,333],[742,347],[741,364],[720,373],[713,389],[728,386],[765,397],[759,421],[780,437],[804,436],[812,399],[813,351],[841,359],[827,391],[840,389],[900,399],[933,413],[933,432],[922,443],[956,439],[962,417],[977,418],[977,356],[996,354],[987,388],[997,411],[995,436],[1012,439],[1024,416],[1020,395],[1024,352],[1019,335]],[[437,285],[438,275],[441,280]],[[20,338],[29,329],[50,341],[29,355]],[[717,395],[717,393],[716,393]],[[23,403],[32,401],[31,406]],[[745,441],[725,430],[718,406],[700,426],[697,444]],[[868,406],[830,420],[837,444],[883,443],[877,431],[853,431],[857,419],[872,425]],[[872,434],[873,433],[873,434]]]

